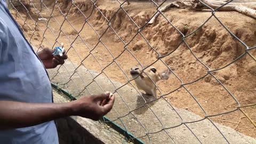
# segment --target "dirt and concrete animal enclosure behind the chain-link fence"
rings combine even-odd
[[[255,19],[210,6],[160,11],[172,2],[11,0],[8,6],[35,51],[64,43],[68,60],[47,70],[54,87],[70,100],[115,94],[110,121],[102,121],[118,124],[127,141],[256,143]],[[156,97],[138,89],[136,66]],[[145,73],[150,67],[170,77],[156,82]]]

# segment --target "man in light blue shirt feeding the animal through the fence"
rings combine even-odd
[[[45,68],[67,59],[52,53],[44,49],[35,54],[0,0],[0,143],[59,143],[54,119],[76,115],[98,120],[113,107],[109,93],[52,103]]]

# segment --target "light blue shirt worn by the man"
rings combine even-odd
[[[4,0],[0,0],[0,100],[52,102],[47,72],[7,10]],[[51,121],[0,131],[0,143],[54,144],[59,141],[56,125]]]

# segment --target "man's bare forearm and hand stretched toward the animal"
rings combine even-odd
[[[111,110],[114,100],[114,95],[99,94],[66,103],[0,101],[0,130],[33,126],[72,115],[97,121]]]

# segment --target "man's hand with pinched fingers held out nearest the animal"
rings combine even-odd
[[[114,105],[115,97],[109,94],[110,93],[91,95],[73,101],[74,114],[98,121],[102,116],[106,115]]]

